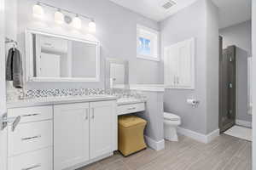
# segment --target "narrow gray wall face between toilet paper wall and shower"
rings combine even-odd
[[[218,8],[207,1],[207,133],[218,129]]]

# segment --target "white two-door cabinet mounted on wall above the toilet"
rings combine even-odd
[[[195,88],[195,38],[164,49],[166,88]]]

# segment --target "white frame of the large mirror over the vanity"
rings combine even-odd
[[[40,34],[49,37],[59,37],[67,40],[85,42],[96,45],[96,77],[33,77],[33,52],[32,52],[32,34]],[[100,42],[76,37],[68,37],[44,31],[26,29],[26,82],[100,82],[101,57]]]

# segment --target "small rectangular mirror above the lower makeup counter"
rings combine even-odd
[[[106,59],[106,89],[129,88],[129,65],[123,59]]]

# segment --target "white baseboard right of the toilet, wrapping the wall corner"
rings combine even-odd
[[[183,127],[177,127],[177,133],[181,133],[184,136],[187,136],[191,139],[195,139],[199,142],[207,144],[219,136],[219,129],[213,131],[212,133],[202,134],[202,133],[196,133],[189,129],[185,129]]]

